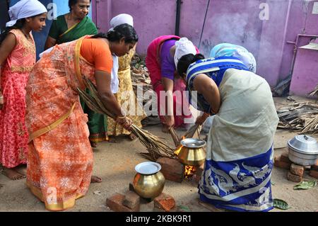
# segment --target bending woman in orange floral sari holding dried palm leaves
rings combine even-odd
[[[88,191],[93,150],[87,115],[76,89],[82,77],[95,82],[98,94],[117,123],[129,128],[110,89],[112,53],[123,56],[136,45],[133,27],[123,24],[107,34],[56,45],[35,64],[27,86],[26,124],[30,134],[27,184],[47,210],[66,210]]]

